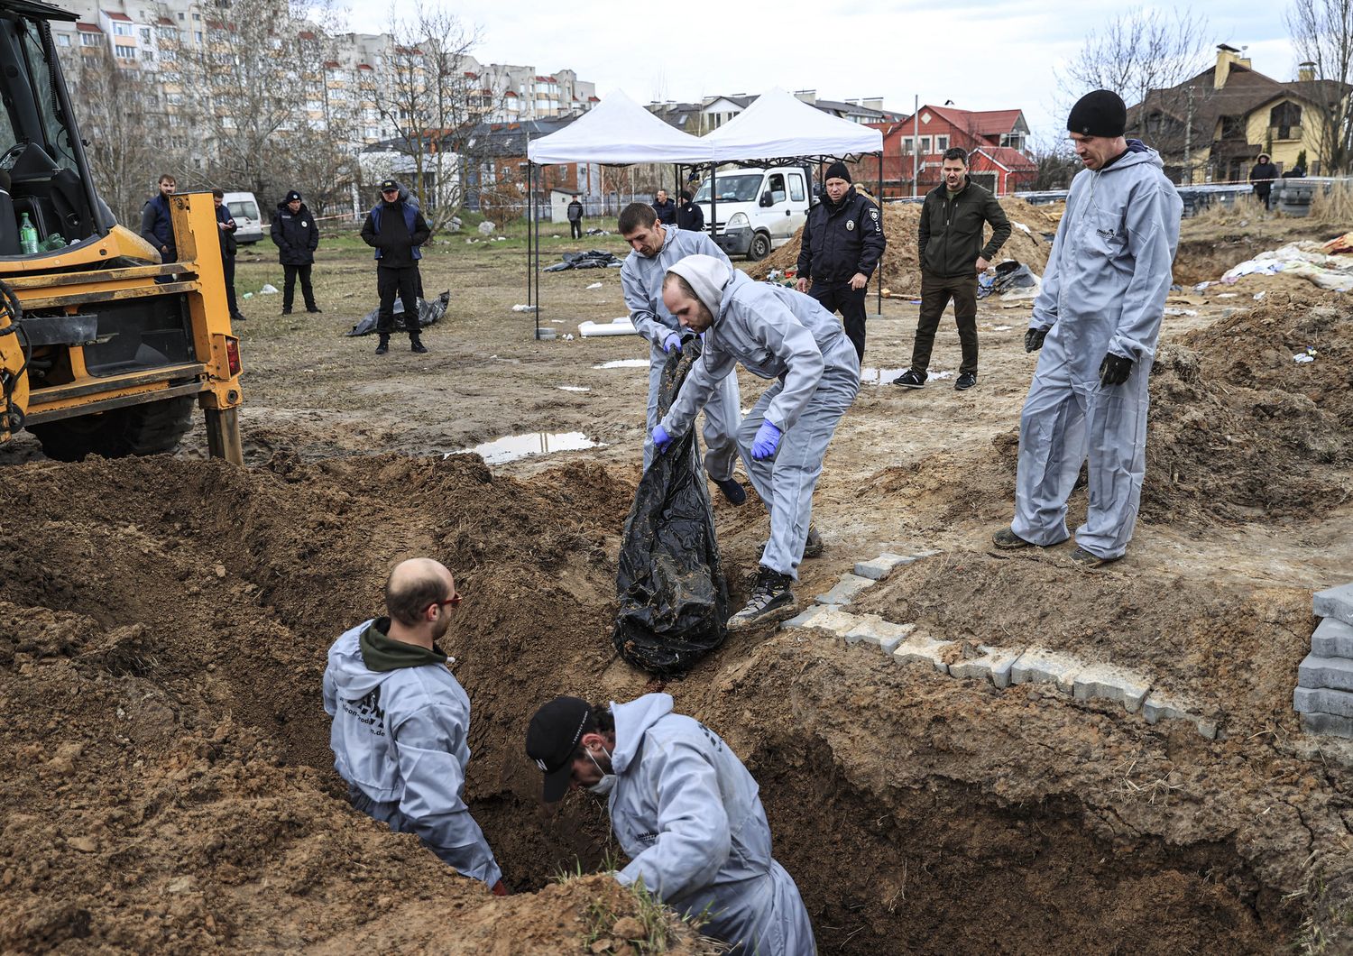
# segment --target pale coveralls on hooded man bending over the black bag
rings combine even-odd
[[[859,392],[859,354],[836,316],[812,296],[754,283],[727,261],[705,256],[676,264],[674,272],[690,283],[714,322],[662,426],[670,435],[685,434],[737,362],[762,379],[779,379],[743,419],[737,445],[770,510],[770,541],[760,563],[797,580],[827,445]],[[783,437],[774,457],[758,461],[752,441],[766,421]]]

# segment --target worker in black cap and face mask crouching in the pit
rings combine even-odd
[[[854,349],[852,349],[854,352]],[[536,711],[526,753],[545,800],[584,787],[606,795],[612,829],[643,882],[741,956],[813,956],[817,944],[793,878],[771,857],[756,780],[718,734],[672,713],[668,694],[591,707],[556,698]]]

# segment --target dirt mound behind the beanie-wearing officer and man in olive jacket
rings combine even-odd
[[[1011,223],[1020,223],[1028,231],[1015,226],[1011,230],[1011,238],[996,254],[996,260],[1017,260],[1042,276],[1043,269],[1047,268],[1047,253],[1053,247],[1051,241],[1045,238],[1045,234],[1050,235],[1057,231],[1058,218],[1055,212],[1013,197],[1001,199],[1001,207]],[[893,296],[913,299],[921,293],[921,273],[916,252],[916,229],[920,224],[920,203],[884,206],[884,234],[888,237],[888,247],[884,250],[884,261],[875,276]],[[992,230],[989,227],[985,233],[986,238],[990,238]],[[771,269],[781,272],[793,269],[798,262],[802,237],[804,230],[794,233],[789,242],[748,268],[748,274],[752,279],[764,279]]]

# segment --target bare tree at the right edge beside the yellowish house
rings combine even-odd
[[[1304,92],[1319,114],[1321,166],[1344,172],[1353,160],[1353,0],[1293,0],[1285,19],[1296,51],[1315,66]]]

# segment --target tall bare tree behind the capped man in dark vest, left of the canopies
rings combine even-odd
[[[391,26],[394,46],[382,70],[364,80],[364,99],[399,130],[394,149],[413,166],[410,187],[432,230],[445,229],[465,199],[463,164],[478,166],[490,137],[480,124],[502,111],[506,91],[480,76],[471,51],[479,30],[441,8],[414,8]]]

